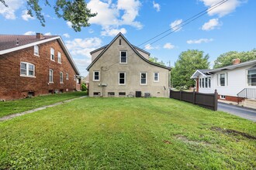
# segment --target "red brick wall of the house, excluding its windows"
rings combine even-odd
[[[55,62],[50,60],[50,47],[54,48]],[[27,97],[29,91],[35,96],[47,94],[49,90],[73,91],[76,88],[76,74],[59,42],[53,40],[39,45],[40,56],[33,55],[33,46],[0,56],[0,100]],[[61,63],[57,63],[57,53],[61,53]],[[35,78],[20,76],[20,63],[35,65]],[[49,83],[49,69],[54,70],[54,83]],[[63,82],[60,83],[60,72]],[[66,80],[66,73],[69,80]]]

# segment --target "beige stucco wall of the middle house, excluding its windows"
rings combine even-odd
[[[168,69],[147,63],[123,39],[122,46],[119,46],[119,39],[112,42],[89,69],[90,75],[93,71],[100,72],[100,81],[93,81],[93,76],[90,76],[89,96],[94,96],[96,92],[103,97],[108,97],[111,92],[115,93],[115,97],[122,92],[126,96],[130,93],[135,96],[136,91],[141,91],[142,96],[148,92],[153,97],[168,97]],[[127,63],[119,63],[120,51],[127,51]],[[119,73],[125,73],[125,85],[119,85]],[[140,85],[140,73],[147,73],[147,85]],[[159,73],[159,82],[154,82],[154,73]],[[107,87],[99,87],[99,83],[106,83]]]

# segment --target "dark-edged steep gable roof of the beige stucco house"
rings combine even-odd
[[[161,64],[157,64],[157,63],[153,63],[153,62],[150,62],[150,60],[148,59],[145,59],[144,56],[142,56],[140,53],[137,52],[136,48],[137,49],[140,49],[139,47],[137,46],[133,46],[132,44],[130,44],[130,42],[123,36],[123,34],[121,32],[119,32],[119,34],[114,38],[112,39],[112,41],[106,45],[106,46],[102,46],[101,48],[99,49],[95,49],[94,51],[92,51],[91,53],[95,53],[96,51],[99,51],[100,49],[103,49],[102,53],[99,53],[99,56],[97,56],[93,61],[92,63],[86,68],[86,70],[90,70],[90,68],[93,66],[94,63],[96,63],[96,61],[106,52],[107,49],[109,49],[109,46],[112,45],[113,42],[116,41],[116,39],[118,39],[119,36],[122,36],[122,38],[127,42],[127,44],[130,46],[131,49],[133,49],[133,52],[135,52],[138,56],[140,56],[141,59],[144,59],[144,61],[146,61],[147,63],[151,64],[151,65],[154,65],[154,66],[159,66],[161,68],[164,68],[164,69],[167,69],[167,70],[171,70],[171,67],[168,67],[168,66],[163,66]],[[143,49],[140,49],[142,51],[144,51]],[[146,51],[144,51],[146,52]]]

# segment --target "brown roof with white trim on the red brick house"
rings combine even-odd
[[[61,36],[43,36],[43,39],[37,39],[35,35],[0,35],[0,55],[11,53],[19,49],[25,49],[30,46],[36,46],[44,42],[50,42],[54,39],[57,39],[57,41],[60,43],[61,48],[64,50],[64,53],[71,63],[71,66],[74,68],[75,73],[80,74],[78,67],[75,65],[74,60],[71,57],[71,54],[61,39]],[[17,41],[19,42],[18,45],[16,45]]]

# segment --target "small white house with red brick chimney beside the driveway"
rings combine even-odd
[[[196,70],[191,76],[195,80],[196,91],[214,93],[217,90],[220,100],[239,103],[244,98],[256,98],[256,59],[214,70]]]

